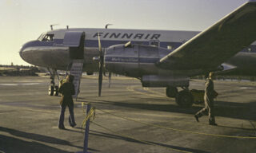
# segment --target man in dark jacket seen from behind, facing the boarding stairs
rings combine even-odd
[[[59,88],[59,92],[62,93],[62,99],[60,100],[62,110],[61,110],[61,115],[59,117],[59,122],[58,122],[59,129],[65,129],[64,115],[65,115],[66,106],[68,106],[70,110],[70,117],[69,117],[70,126],[73,128],[74,126],[76,126],[74,121],[74,102],[72,97],[72,95],[74,95],[73,80],[74,80],[74,76],[68,75],[66,77],[66,81],[63,84],[61,84],[61,87]]]

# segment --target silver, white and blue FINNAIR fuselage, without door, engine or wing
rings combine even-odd
[[[67,65],[70,63],[69,47],[63,45],[66,31],[84,31],[86,33],[84,48],[85,65],[83,70],[89,73],[98,72],[98,62],[93,61],[93,57],[98,57],[99,55],[98,33],[101,36],[102,48],[125,44],[131,41],[133,44],[155,45],[167,49],[164,53],[158,54],[154,59],[147,58],[146,61],[144,60],[142,64],[144,68],[146,66],[148,69],[140,69],[139,67],[137,69],[138,72],[144,71],[143,74],[159,73],[161,69],[156,68],[154,63],[199,33],[197,31],[145,29],[55,29],[42,33],[38,40],[30,41],[23,45],[20,56],[31,65],[66,70]],[[138,58],[139,56],[138,53]],[[126,60],[127,58],[129,57],[126,57]],[[133,58],[130,57],[131,60]],[[122,64],[122,59],[119,62]],[[256,66],[256,43],[243,49],[236,56],[231,57],[228,62],[231,65],[247,69],[250,69],[251,66]],[[245,62],[247,65],[245,65]],[[191,71],[190,76],[197,75],[198,73],[202,72],[192,73]],[[140,74],[133,73],[130,77],[140,77]]]

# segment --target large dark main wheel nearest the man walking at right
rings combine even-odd
[[[182,90],[176,96],[176,103],[182,108],[189,108],[194,103],[193,96],[189,91]]]

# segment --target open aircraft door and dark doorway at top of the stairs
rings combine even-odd
[[[70,59],[84,59],[86,33],[82,31],[68,31],[65,33],[63,45],[69,47]]]

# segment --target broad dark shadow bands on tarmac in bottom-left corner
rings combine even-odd
[[[38,135],[34,133],[28,133],[24,131],[18,131],[10,128],[3,128],[0,127],[0,131],[5,131],[10,133],[10,135],[26,138],[26,139],[32,139],[35,141],[40,141],[43,143],[54,143],[54,144],[60,144],[60,145],[66,145],[70,147],[77,147],[80,149],[83,149],[83,147],[74,146],[70,144],[70,142],[62,139],[57,139],[54,137],[46,136],[46,135]],[[17,139],[14,137],[6,136],[6,135],[0,135],[0,148],[3,148],[2,150],[5,152],[68,152],[68,151],[62,151],[54,147],[47,146],[42,143],[38,142],[30,142],[25,141],[22,139]],[[90,151],[98,151],[94,149],[88,149]]]

